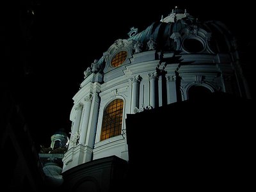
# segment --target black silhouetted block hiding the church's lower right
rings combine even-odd
[[[213,93],[127,115],[132,186],[252,188],[252,100]]]

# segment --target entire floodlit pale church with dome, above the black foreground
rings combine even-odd
[[[73,98],[63,172],[113,155],[128,161],[127,114],[200,93],[250,98],[236,41],[221,22],[199,22],[186,10],[173,10],[140,33],[131,28],[128,35],[84,71],[81,89]]]

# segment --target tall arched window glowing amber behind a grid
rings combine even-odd
[[[121,134],[124,101],[115,99],[104,110],[100,141],[113,138]]]

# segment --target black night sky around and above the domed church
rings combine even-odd
[[[5,57],[9,61],[2,64],[8,66],[3,66],[3,71],[12,73],[7,72],[3,81],[19,95],[36,145],[49,146],[51,135],[58,129],[70,132],[72,97],[93,60],[99,60],[116,39],[127,38],[132,26],[143,31],[161,15],[166,17],[175,6],[186,8],[198,20],[225,23],[237,38],[241,61],[246,63],[244,74],[252,82],[255,32],[254,10],[249,1],[86,2],[42,1],[31,6],[29,12],[28,4],[19,2],[19,8],[1,12],[8,32],[6,49],[10,49]],[[22,26],[31,26],[29,32]],[[25,74],[19,75],[17,71],[22,66],[26,66]]]

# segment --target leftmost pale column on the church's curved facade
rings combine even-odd
[[[68,149],[71,147],[75,147],[77,145],[77,140],[79,140],[79,125],[81,121],[81,115],[82,115],[82,104],[77,104],[75,110],[76,110],[76,117],[73,125],[73,129],[71,131],[71,138],[70,143],[68,145]]]

